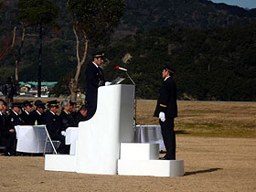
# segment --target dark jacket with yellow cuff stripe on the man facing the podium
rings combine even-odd
[[[159,91],[154,116],[158,117],[159,112],[165,112],[165,117],[167,118],[175,118],[177,116],[176,83],[172,77],[163,82]]]

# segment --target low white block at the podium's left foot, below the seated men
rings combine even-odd
[[[46,155],[45,170],[47,171],[76,171],[76,155]]]

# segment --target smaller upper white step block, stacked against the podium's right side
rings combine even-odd
[[[121,143],[120,159],[153,160],[159,158],[159,144]]]

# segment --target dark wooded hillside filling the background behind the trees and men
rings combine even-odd
[[[66,10],[67,0],[53,1],[59,7],[59,29],[44,30],[42,77],[59,80],[62,82],[59,92],[68,93],[67,81],[76,69],[75,37]],[[0,45],[11,37],[15,26],[17,42],[20,39],[17,2],[6,0],[0,12]],[[110,60],[105,68],[106,77],[114,78],[117,74],[112,67],[121,65],[123,56],[131,53],[133,59],[127,68],[138,82],[141,90],[138,95],[142,98],[156,98],[155,89],[161,81],[157,69],[171,60],[178,69],[180,99],[256,101],[252,86],[256,62],[255,9],[207,0],[127,0],[126,4],[123,19],[115,31],[114,37],[118,38],[105,47]],[[14,76],[15,54],[16,49],[0,60],[1,82]],[[37,80],[37,54],[37,37],[27,37],[19,68],[20,80]],[[81,90],[84,69],[80,76]]]

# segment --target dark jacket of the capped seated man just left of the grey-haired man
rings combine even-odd
[[[53,137],[56,133],[60,133],[60,121],[58,114],[53,114],[52,112],[47,111],[44,116],[44,124],[47,125],[50,137]]]

